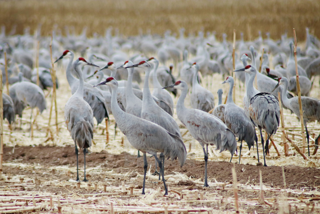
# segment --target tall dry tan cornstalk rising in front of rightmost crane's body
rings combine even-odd
[[[299,73],[298,73],[298,63],[297,63],[297,37],[296,30],[293,28],[293,37],[294,37],[294,61],[296,65],[296,78],[297,78],[297,91],[298,91],[298,101],[299,101],[299,109],[300,109],[300,122],[301,122],[301,133],[302,133],[302,142],[303,149],[302,152],[306,153],[306,138],[304,133],[304,124],[303,124],[303,112],[302,112],[302,102],[301,102],[301,91],[300,91],[300,83],[299,83]],[[310,156],[309,144],[308,144],[308,155]]]

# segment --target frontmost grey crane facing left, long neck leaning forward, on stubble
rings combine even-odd
[[[146,61],[143,61],[143,62],[148,63]],[[129,66],[129,67],[132,67],[132,66]],[[178,158],[180,162],[180,166],[182,167],[187,158],[187,150],[183,141],[180,139],[180,137],[167,132],[163,127],[155,123],[141,119],[139,117],[136,117],[134,115],[131,115],[122,111],[121,108],[118,106],[117,100],[116,100],[116,90],[118,88],[117,81],[113,77],[109,77],[106,79],[106,81],[103,81],[95,86],[104,85],[104,84],[109,85],[111,87],[111,90],[112,90],[111,108],[119,129],[121,130],[121,132],[124,133],[124,135],[127,137],[131,145],[143,153],[144,177],[143,177],[142,194],[145,194],[144,189],[145,189],[146,173],[147,173],[147,167],[148,167],[146,153],[149,153],[155,156],[159,164],[163,183],[164,183],[165,195],[167,195],[168,189],[165,184],[162,163],[156,157],[156,153],[162,152],[164,153],[164,156],[171,157],[172,160],[175,158]]]

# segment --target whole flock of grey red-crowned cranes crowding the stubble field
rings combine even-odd
[[[301,80],[301,94],[305,95],[302,97],[303,123],[309,145],[307,122],[320,119],[320,100],[307,97],[312,86],[311,77],[320,74],[320,41],[309,34],[308,29],[306,32],[306,47],[304,50],[298,50],[298,72]],[[116,126],[132,146],[142,152],[144,159],[142,194],[145,193],[148,167],[146,153],[155,157],[156,164],[160,168],[159,180],[162,176],[165,194],[167,194],[164,159],[178,158],[182,167],[187,158],[179,125],[173,118],[174,111],[181,123],[203,148],[204,186],[206,187],[209,186],[207,182],[208,145],[215,145],[220,152],[228,150],[231,153],[231,162],[233,154],[237,151],[236,142],[240,141],[240,163],[243,141],[247,143],[249,150],[254,146],[254,142],[258,148],[255,127],[260,131],[264,166],[267,166],[265,154],[268,154],[269,150],[268,141],[277,132],[280,123],[278,91],[281,92],[284,107],[300,116],[298,97],[293,97],[288,92],[290,90],[296,94],[297,89],[293,42],[292,38],[287,38],[286,34],[279,41],[270,39],[269,34],[267,39],[263,39],[260,33],[255,41],[245,42],[241,39],[237,42],[234,72],[236,72],[236,79],[246,85],[244,109],[238,107],[232,99],[234,79],[231,76],[227,77],[233,70],[232,51],[225,34],[222,42],[217,41],[215,34],[211,33],[207,37],[204,37],[202,32],[199,32],[198,36],[185,37],[183,29],[180,30],[178,39],[169,32],[166,32],[164,37],[148,34],[124,38],[119,35],[111,36],[109,29],[105,37],[95,35],[93,38],[87,38],[84,33],[80,36],[68,35],[68,37],[63,37],[61,34],[54,35],[52,50],[54,56],[59,56],[61,48],[68,48],[55,63],[59,61],[63,61],[63,64],[67,63],[66,76],[72,96],[65,104],[64,116],[68,131],[75,142],[77,181],[79,181],[77,147],[80,147],[84,153],[83,181],[87,181],[85,155],[92,145],[93,118],[99,125],[103,119],[108,123],[109,115],[112,114],[116,120]],[[22,111],[27,105],[31,108],[38,107],[40,113],[46,109],[43,90],[53,87],[53,82],[51,75],[48,75],[51,69],[49,53],[46,49],[48,38],[39,39],[42,44],[39,50],[41,67],[38,68],[41,71],[38,72],[41,87],[35,84],[34,78],[36,69],[32,60],[34,53],[30,49],[34,42],[33,36],[28,33],[11,37],[7,37],[4,32],[0,34],[0,69],[4,71],[3,58],[6,52],[9,65],[8,81],[10,80],[9,83],[12,84],[9,91],[10,97],[3,96],[4,117],[10,124],[15,121],[15,114],[22,117]],[[265,51],[263,57],[255,49],[260,52],[263,49]],[[74,61],[73,51],[85,55],[90,62],[83,57]],[[133,54],[128,56],[128,52]],[[188,59],[189,53],[195,57]],[[154,57],[147,58],[145,57],[147,55]],[[179,62],[180,56],[183,56],[181,62]],[[62,60],[66,58],[68,62]],[[256,58],[262,62],[256,61]],[[272,61],[269,60],[270,58]],[[165,65],[172,62],[170,59],[174,65],[170,64],[168,68]],[[248,60],[251,60],[251,64],[248,64]],[[159,66],[160,62],[163,66]],[[257,69],[260,64],[262,65],[261,73]],[[178,67],[175,70],[179,73],[174,72],[174,66]],[[92,69],[94,67],[102,68],[94,70]],[[145,74],[143,90],[140,90],[140,73]],[[212,91],[199,84],[202,76],[214,73],[220,73],[224,78],[226,77],[223,83],[229,84],[226,104],[222,104],[222,90],[217,90],[219,97],[217,107],[214,106]],[[253,86],[255,77],[257,89]],[[105,81],[102,81],[104,79]],[[152,93],[149,88],[149,79],[153,82]],[[176,96],[177,90],[180,90],[180,96],[174,110],[172,95]],[[191,105],[186,104],[186,107],[185,98],[190,92]],[[263,138],[262,130],[267,133],[267,139]],[[318,138],[319,136],[316,138],[316,147]],[[159,158],[157,153],[160,153]],[[259,162],[259,153],[257,155]]]

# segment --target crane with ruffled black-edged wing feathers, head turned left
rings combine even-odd
[[[234,72],[244,71],[249,74],[246,89],[246,115],[250,118],[252,123],[259,128],[261,135],[261,143],[263,149],[264,166],[267,166],[265,159],[265,151],[269,150],[269,138],[272,134],[276,133],[280,122],[280,107],[278,99],[269,93],[259,93],[253,87],[254,77],[257,70],[254,66],[247,65],[246,67],[236,70]],[[258,92],[258,93],[257,93]],[[264,141],[261,130],[264,129],[268,138],[266,140],[266,147],[264,148]]]

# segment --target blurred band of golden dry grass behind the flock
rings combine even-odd
[[[110,26],[125,35],[136,35],[140,29],[178,32],[184,27],[187,34],[203,29],[216,31],[218,37],[225,32],[229,39],[233,29],[244,32],[245,39],[255,38],[258,30],[279,39],[285,31],[291,36],[295,28],[298,41],[305,39],[305,27],[309,27],[320,37],[319,0],[11,0],[0,4],[0,23],[7,31],[16,25],[17,33],[27,26],[33,32],[41,23],[44,35],[56,24],[60,29],[74,26],[76,32],[87,26],[88,35],[104,34]]]

